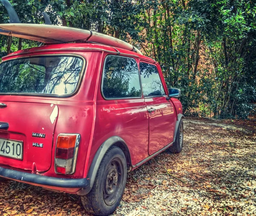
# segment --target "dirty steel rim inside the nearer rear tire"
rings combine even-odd
[[[105,172],[103,180],[103,199],[106,205],[113,205],[120,197],[124,179],[122,161],[114,158]]]

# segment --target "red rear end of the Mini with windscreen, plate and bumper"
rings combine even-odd
[[[50,50],[34,48],[0,64],[0,176],[76,193],[88,185],[92,78],[101,55]]]

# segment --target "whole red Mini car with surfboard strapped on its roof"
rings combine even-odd
[[[182,150],[180,90],[167,89],[156,61],[81,29],[0,29],[48,44],[0,64],[0,176],[78,194],[89,213],[108,215],[128,171],[167,148]]]

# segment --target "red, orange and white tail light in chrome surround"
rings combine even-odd
[[[55,173],[73,174],[76,170],[80,134],[59,134],[55,151]]]

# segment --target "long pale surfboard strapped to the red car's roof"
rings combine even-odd
[[[1,31],[3,30],[3,31]],[[115,37],[88,31],[79,28],[70,28],[64,26],[50,26],[27,23],[9,23],[0,24],[0,34],[12,35],[28,40],[35,40],[43,43],[69,43],[74,41],[88,41],[122,48],[130,51],[136,51],[142,54],[139,49],[133,45],[119,40]]]

